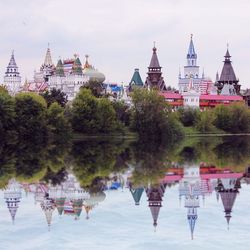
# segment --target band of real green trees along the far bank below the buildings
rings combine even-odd
[[[72,103],[53,89],[43,95],[20,93],[11,97],[0,89],[1,142],[68,140],[73,133],[85,135],[125,134],[133,131],[140,139],[174,140],[192,128],[201,133],[250,132],[250,110],[243,104],[219,105],[215,109],[171,106],[156,90],[135,89],[132,105],[96,96],[82,88]]]

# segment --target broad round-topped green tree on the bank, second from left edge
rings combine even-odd
[[[20,93],[15,97],[16,128],[19,140],[42,143],[47,141],[47,104],[34,93]]]

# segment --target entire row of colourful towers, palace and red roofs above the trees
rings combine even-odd
[[[222,71],[220,74],[216,73],[215,81],[206,77],[204,70],[202,74],[200,73],[192,35],[186,55],[186,65],[183,72],[179,71],[177,78],[178,90],[166,85],[155,44],[145,82],[140,76],[139,69],[135,69],[131,81],[127,84],[105,83],[105,75],[89,63],[88,55],[85,57],[84,64],[75,54],[71,59],[62,60],[60,58],[55,65],[48,46],[44,63],[39,71],[34,72],[32,80],[26,79],[23,83],[14,52],[12,52],[5,72],[3,86],[8,89],[11,95],[19,92],[42,93],[55,88],[64,92],[68,101],[72,101],[81,86],[98,83],[102,86],[103,93],[109,94],[111,99],[124,100],[128,104],[131,103],[129,94],[134,88],[157,88],[160,95],[164,96],[173,110],[182,106],[206,109],[218,104],[228,105],[233,102],[245,101],[249,105],[250,102],[250,91],[241,90],[239,79],[232,67],[228,48],[224,56]]]

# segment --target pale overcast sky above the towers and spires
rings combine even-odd
[[[106,81],[143,80],[156,42],[167,85],[177,87],[193,34],[200,72],[215,79],[229,44],[242,88],[250,88],[248,0],[1,0],[0,81],[15,51],[23,81],[39,70],[50,44],[53,62],[84,56]]]

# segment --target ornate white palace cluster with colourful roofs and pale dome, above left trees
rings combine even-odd
[[[88,56],[84,66],[76,54],[72,59],[59,59],[55,66],[48,48],[39,72],[34,73],[34,80],[25,82],[23,90],[41,93],[56,88],[63,91],[68,100],[72,101],[81,86],[89,82],[103,83],[104,80],[104,74],[89,64]]]

